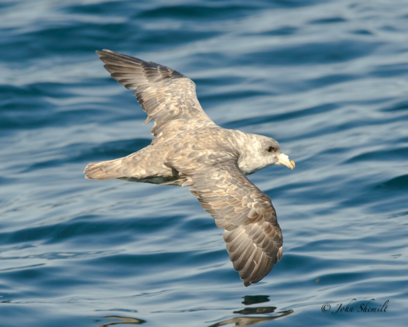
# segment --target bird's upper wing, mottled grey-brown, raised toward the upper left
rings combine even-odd
[[[188,129],[215,126],[202,110],[192,80],[166,66],[146,62],[110,50],[96,51],[111,76],[134,89],[137,101],[147,113],[145,123],[155,120],[153,143]]]

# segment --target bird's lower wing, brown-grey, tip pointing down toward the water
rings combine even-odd
[[[282,258],[282,231],[271,199],[233,160],[187,176],[191,192],[225,229],[226,249],[244,285],[258,283]]]

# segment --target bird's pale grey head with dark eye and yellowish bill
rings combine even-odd
[[[295,162],[282,153],[273,138],[245,133],[245,146],[240,151],[238,166],[245,175],[253,174],[271,165],[295,168]]]

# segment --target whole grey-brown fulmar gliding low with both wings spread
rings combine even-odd
[[[126,157],[91,162],[86,178],[118,178],[191,186],[224,228],[234,269],[245,286],[258,283],[282,258],[282,231],[271,199],[245,175],[295,162],[270,137],[217,126],[202,110],[195,84],[173,69],[110,50],[96,51],[111,76],[155,120],[151,144]]]

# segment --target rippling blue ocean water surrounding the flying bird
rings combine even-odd
[[[0,45],[0,326],[406,325],[407,1],[3,0]],[[284,233],[260,283],[187,188],[84,179],[151,139],[101,49],[296,161],[250,176]]]

